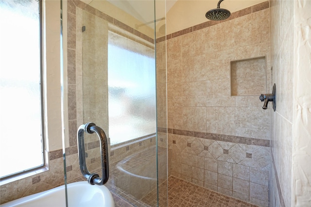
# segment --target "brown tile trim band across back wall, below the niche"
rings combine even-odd
[[[160,130],[162,131],[164,129],[160,129]],[[158,128],[158,132],[159,132],[159,128]],[[168,133],[203,138],[203,139],[208,139],[208,140],[270,147],[270,140],[262,140],[262,139],[248,138],[248,137],[238,137],[238,136],[225,135],[225,134],[213,134],[213,133],[208,133],[208,132],[188,131],[188,130],[173,129],[173,128],[169,128]]]

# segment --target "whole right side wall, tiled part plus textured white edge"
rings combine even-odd
[[[310,54],[310,35],[304,35],[310,31],[310,9],[310,1],[271,1],[271,84],[276,83],[276,111],[271,113],[271,207],[311,205],[307,181],[311,178],[311,127],[306,121],[311,117],[307,110],[311,76],[310,64],[305,63],[310,63],[310,55],[304,58]]]

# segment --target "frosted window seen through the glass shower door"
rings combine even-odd
[[[111,144],[155,133],[155,50],[108,33]]]

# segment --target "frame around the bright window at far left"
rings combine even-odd
[[[38,2],[38,12],[39,12],[39,50],[40,50],[40,119],[41,119],[41,154],[42,154],[42,164],[33,168],[25,169],[10,175],[5,175],[0,177],[0,185],[6,184],[7,182],[11,182],[11,179],[16,177],[24,178],[33,175],[33,173],[39,173],[47,170],[47,162],[46,162],[46,153],[45,153],[45,128],[44,128],[44,88],[43,88],[43,14],[42,14],[42,7],[43,3],[42,0],[35,0]],[[30,173],[30,175],[28,175]]]

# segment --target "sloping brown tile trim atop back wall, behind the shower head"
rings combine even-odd
[[[190,33],[190,32],[201,30],[201,29],[204,29],[204,28],[207,28],[207,27],[219,24],[219,23],[230,21],[232,19],[239,18],[241,16],[245,16],[245,15],[249,15],[249,14],[252,14],[252,13],[255,13],[255,12],[259,12],[259,11],[267,9],[267,8],[269,8],[269,1],[264,1],[264,2],[261,2],[259,4],[254,5],[254,6],[250,6],[250,7],[247,7],[245,9],[242,9],[242,10],[239,10],[237,12],[234,12],[234,13],[231,14],[231,16],[229,18],[227,18],[227,19],[225,19],[223,21],[210,21],[209,20],[209,21],[203,22],[201,24],[194,25],[194,26],[192,26],[190,28],[187,28],[187,29],[184,29],[184,30],[181,30],[181,31],[177,31],[177,32],[173,32],[172,34],[168,34],[168,35],[166,35],[166,39],[165,39],[165,36],[157,38],[156,39],[156,43],[159,43],[159,42],[171,39],[173,37],[178,37],[180,35],[184,35],[184,34],[187,34],[187,33]]]

